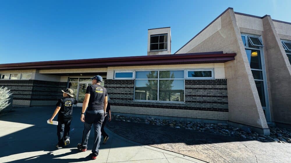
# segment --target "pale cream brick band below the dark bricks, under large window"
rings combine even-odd
[[[111,111],[116,113],[132,113],[155,116],[228,120],[228,112],[218,112],[218,111],[179,110],[179,109],[162,109],[149,107],[126,107],[114,105],[111,106]]]

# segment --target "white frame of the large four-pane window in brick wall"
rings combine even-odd
[[[141,79],[136,79],[135,78],[135,80],[134,80],[134,94],[133,94],[133,101],[136,101],[136,102],[159,102],[159,103],[182,103],[182,104],[185,104],[185,69],[159,69],[159,70],[157,70],[157,69],[155,69],[155,70],[135,70],[135,72],[134,73],[136,73],[136,72],[140,72],[140,71],[157,71],[158,72],[158,78],[150,78],[150,79],[148,79],[148,78],[146,78],[146,79],[144,79],[144,78],[141,78]],[[184,71],[184,78],[162,78],[162,79],[160,79],[159,78],[159,75],[160,75],[160,71]],[[158,85],[157,85],[157,100],[136,100],[135,99],[135,81],[136,80],[157,80],[157,83],[158,83]],[[184,80],[184,101],[160,101],[159,100],[159,80]]]

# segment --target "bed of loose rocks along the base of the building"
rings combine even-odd
[[[192,121],[178,121],[178,120],[163,120],[155,118],[138,118],[127,117],[113,114],[112,118],[119,121],[145,123],[149,125],[169,126],[179,129],[196,130],[201,132],[209,132],[215,134],[222,134],[228,136],[235,136],[249,140],[258,140],[261,142],[278,142],[278,143],[291,143],[291,129],[269,127],[270,135],[262,135],[252,132],[248,127],[234,128],[226,123],[201,123]]]

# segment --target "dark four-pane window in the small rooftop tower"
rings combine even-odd
[[[168,49],[168,34],[150,36],[150,51],[163,51]]]

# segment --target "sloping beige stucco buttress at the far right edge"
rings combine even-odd
[[[278,22],[272,21],[271,17],[262,21],[271,118],[274,122],[291,124],[291,66],[277,33],[278,29],[281,33],[291,34],[291,31],[284,31],[291,25],[281,23],[278,27]]]

